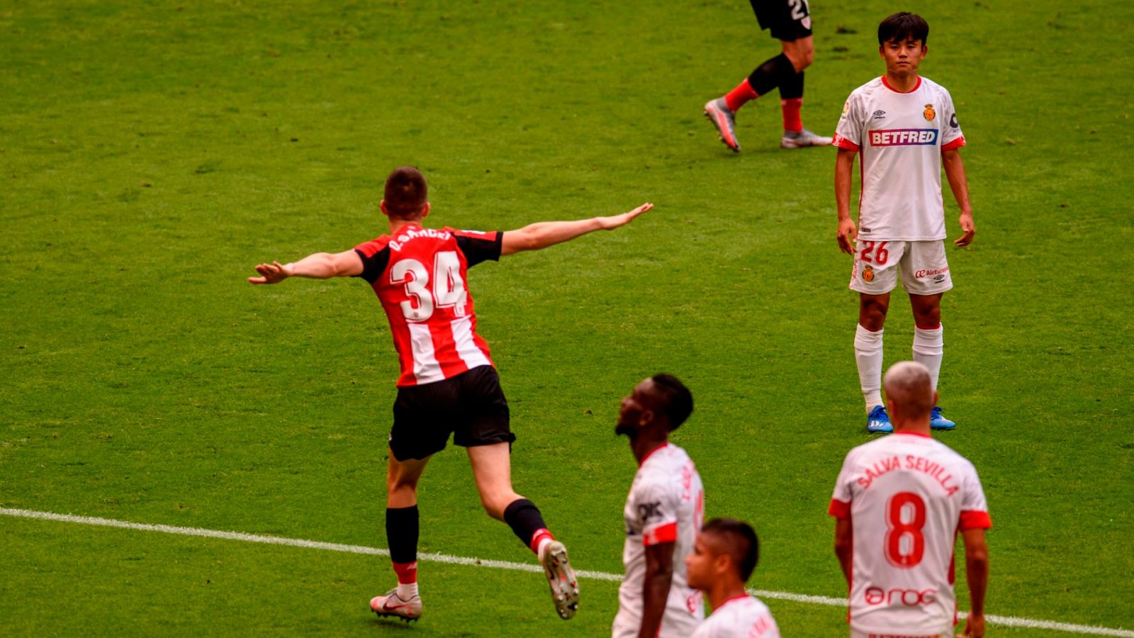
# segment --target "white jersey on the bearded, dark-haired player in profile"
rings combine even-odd
[[[688,585],[685,556],[704,519],[704,488],[693,460],[680,447],[665,444],[642,459],[626,498],[626,576],[618,588],[613,636],[636,637],[642,626],[645,547],[674,544],[674,576],[661,618],[660,638],[688,638],[704,619],[701,593]]]

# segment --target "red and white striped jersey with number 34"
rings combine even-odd
[[[403,226],[358,244],[359,277],[370,283],[390,321],[401,362],[398,386],[432,384],[477,366],[492,366],[476,334],[468,268],[499,260],[503,233]]]

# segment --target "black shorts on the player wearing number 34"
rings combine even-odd
[[[398,388],[390,450],[398,461],[424,459],[452,443],[463,447],[511,443],[508,400],[496,368],[480,366],[456,377]]]

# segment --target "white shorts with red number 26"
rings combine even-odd
[[[850,289],[881,295],[898,285],[912,295],[936,295],[953,288],[945,242],[873,242],[858,240],[850,271]]]

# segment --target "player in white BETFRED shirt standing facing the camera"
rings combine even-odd
[[[902,12],[882,20],[878,51],[886,61],[886,75],[850,93],[835,135],[839,148],[835,163],[837,238],[843,252],[854,255],[850,289],[858,292],[854,351],[866,403],[866,430],[871,433],[894,431],[879,391],[882,327],[898,271],[913,307],[914,361],[929,368],[937,388],[945,347],[941,295],[953,288],[942,242],[942,163],[960,209],[963,234],[954,244],[967,246],[975,233],[959,151],[965,137],[953,98],[942,86],[917,75],[928,37],[929,25],[921,16]],[[857,228],[850,219],[850,174],[856,154],[862,154]],[[956,426],[936,405],[930,419],[933,429]]]

